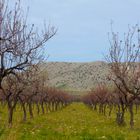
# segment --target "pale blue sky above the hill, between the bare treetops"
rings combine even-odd
[[[100,61],[109,48],[111,21],[123,34],[140,21],[140,0],[23,0],[28,22],[58,28],[47,45],[48,61]]]

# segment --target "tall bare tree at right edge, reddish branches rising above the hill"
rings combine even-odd
[[[129,107],[130,126],[134,125],[133,102],[140,97],[140,30],[138,25],[129,28],[124,40],[119,34],[111,33],[110,50],[107,56],[110,65],[110,78]]]

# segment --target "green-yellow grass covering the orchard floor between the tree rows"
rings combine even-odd
[[[140,113],[135,115],[135,128],[119,127],[115,112],[105,117],[82,103],[22,123],[22,112],[17,109],[12,128],[7,127],[7,111],[0,109],[0,140],[140,140]],[[5,110],[5,111],[2,111]]]

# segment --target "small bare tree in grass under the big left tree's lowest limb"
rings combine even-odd
[[[22,73],[18,74],[18,78],[13,75],[8,75],[4,78],[3,87],[3,97],[7,103],[8,107],[8,123],[12,125],[13,111],[19,100],[19,95],[25,90],[27,81]]]

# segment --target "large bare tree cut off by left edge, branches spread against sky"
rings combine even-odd
[[[28,26],[26,21],[20,0],[12,10],[7,0],[0,0],[0,87],[7,75],[16,75],[17,71],[40,61],[42,47],[56,33],[50,26],[39,32],[34,24]]]

